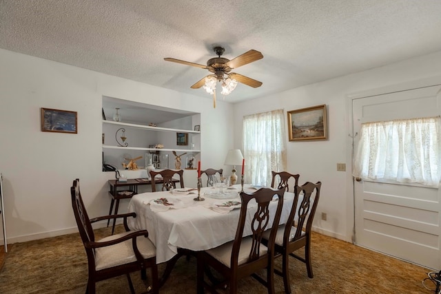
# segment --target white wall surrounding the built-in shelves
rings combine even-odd
[[[70,202],[74,178],[91,217],[110,207],[101,171],[102,96],[201,113],[203,168],[223,167],[232,105],[79,67],[0,50],[0,172],[8,242],[76,231]],[[78,134],[40,131],[40,107],[78,112]],[[210,140],[210,136],[218,140]],[[190,171],[191,172],[191,171]],[[120,211],[125,211],[122,203]]]

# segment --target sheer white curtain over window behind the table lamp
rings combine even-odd
[[[271,171],[286,170],[285,118],[283,109],[243,118],[245,182],[271,185]]]

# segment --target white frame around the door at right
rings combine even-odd
[[[348,242],[352,244],[356,243],[356,234],[355,234],[355,191],[354,191],[354,183],[352,176],[352,158],[353,158],[353,140],[356,137],[356,134],[353,134],[353,109],[352,102],[354,99],[365,98],[369,96],[378,96],[382,94],[390,94],[395,92],[403,92],[407,90],[418,89],[422,87],[430,87],[434,85],[441,85],[441,75],[430,76],[427,78],[420,78],[413,81],[407,81],[403,83],[397,83],[393,85],[387,85],[384,87],[373,88],[370,90],[365,90],[362,92],[353,92],[346,95],[346,103],[347,103],[347,153],[346,153],[346,180],[347,180],[347,202],[346,202],[346,223],[347,223],[347,231],[346,231],[346,239]]]

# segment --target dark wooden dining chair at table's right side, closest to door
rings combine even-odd
[[[274,269],[274,273],[283,277],[285,293],[291,293],[289,283],[289,256],[306,264],[308,277],[314,277],[311,265],[311,228],[320,198],[321,182],[305,182],[302,186],[294,187],[294,202],[286,224],[277,230],[275,241],[275,258],[282,256],[282,271]],[[298,207],[298,209],[297,209]],[[269,231],[263,235],[265,240],[271,241]],[[305,257],[294,251],[305,247]]]

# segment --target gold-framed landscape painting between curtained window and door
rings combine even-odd
[[[326,105],[287,112],[289,140],[326,140]]]

